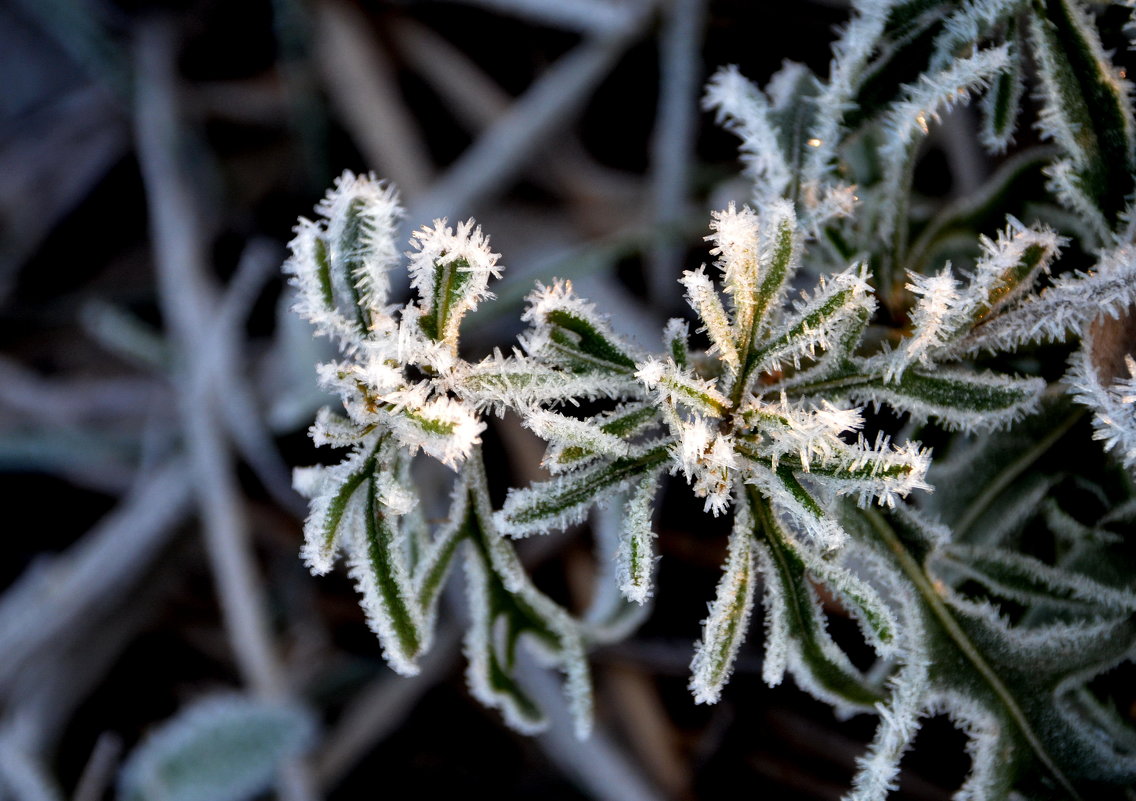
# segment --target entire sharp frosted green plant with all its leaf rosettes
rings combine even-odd
[[[902,83],[901,58],[918,65]],[[1054,147],[917,219],[924,136],[982,94],[980,141],[1005,150],[1027,62]],[[615,560],[601,573],[645,604],[652,507],[669,476],[707,514],[733,516],[692,660],[696,702],[722,696],[761,599],[768,684],[788,674],[838,714],[879,716],[850,799],[894,790],[919,721],[939,714],[969,739],[955,798],[1079,798],[1083,783],[1136,781],[1136,735],[1089,687],[1136,654],[1136,589],[1109,556],[1136,501],[1085,519],[1061,500],[1067,476],[1027,469],[1077,431],[1078,412],[1055,400],[1067,389],[1093,409],[1096,437],[1129,469],[1136,460],[1136,361],[1111,353],[1125,373],[1102,374],[1094,339],[1136,304],[1131,109],[1091,17],[1070,0],[854,2],[827,81],[788,64],[762,90],[727,67],[705,106],[741,137],[754,192],[711,215],[713,265],[678,282],[704,350],[673,319],[651,352],[556,279],[528,295],[518,348],[468,361],[462,316],[500,272],[473,222],[415,233],[417,300],[401,308],[387,297],[401,214],[390,189],[344,174],[321,219],[301,222],[289,261],[298,309],[341,347],[320,377],[346,414],[320,412],[312,437],[349,449],[335,467],[296,473],[312,499],[306,560],[324,573],[345,554],[387,661],[410,674],[463,551],[473,694],[521,731],[543,724],[512,677],[524,639],[563,671],[583,736],[585,651],[618,627],[540,593],[509,537],[625,501],[618,535],[598,537]],[[1050,224],[1003,200],[1043,165],[1063,207],[1046,207]],[[1063,264],[1078,249],[1091,260]],[[1031,366],[1077,337],[1063,384]],[[902,427],[869,414],[882,407]],[[478,441],[483,416],[507,412],[546,442],[549,477],[493,510]],[[917,435],[947,458],[933,465]],[[418,451],[458,473],[435,532],[416,514]],[[1116,482],[1081,473],[1113,503]],[[1027,524],[1052,548],[1025,542]],[[819,589],[859,624],[874,669],[830,635]]]

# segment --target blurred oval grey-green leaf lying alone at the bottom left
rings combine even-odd
[[[122,801],[244,801],[311,742],[299,708],[241,695],[186,707],[142,741],[123,766]]]

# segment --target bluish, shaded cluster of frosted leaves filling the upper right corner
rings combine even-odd
[[[978,310],[974,334],[950,350],[972,358],[1084,335],[1067,384],[1094,410],[1097,437],[1130,467],[1133,374],[1122,352],[1103,374],[1093,365],[1089,326],[1130,316],[1136,301],[1136,123],[1130,84],[1095,23],[1076,0],[853,2],[827,80],[788,62],[761,90],[725,68],[704,102],[741,139],[754,202],[793,201],[817,236],[818,269],[864,258],[887,316],[901,325],[926,325],[936,312],[927,291],[958,284],[957,273],[941,269],[944,255],[975,262],[980,277],[989,249],[974,232],[1008,212],[1047,216],[1081,250],[1095,251],[1087,275],[1069,272],[997,319]],[[1000,156],[1029,122],[1022,103],[1029,76],[1038,108],[1033,125],[1052,144],[1016,152],[977,191],[930,216],[914,214],[912,176],[932,126],[984,92],[979,140]],[[907,282],[904,269],[913,273]],[[905,349],[924,342],[917,335]]]

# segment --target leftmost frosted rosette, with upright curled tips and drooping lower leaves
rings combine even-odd
[[[533,586],[494,528],[478,450],[485,425],[463,393],[460,324],[490,297],[498,256],[473,220],[457,230],[435,220],[415,232],[407,253],[418,300],[398,308],[387,297],[387,270],[399,260],[393,190],[344,173],[317,211],[318,222],[296,227],[285,269],[298,291],[296,311],[344,357],[321,365],[319,376],[342,398],[345,416],[323,409],[311,437],[348,456],[334,467],[295,473],[296,489],[311,499],[304,560],[323,574],[345,554],[387,662],[414,675],[431,645],[442,587],[465,549],[471,692],[521,731],[544,725],[512,676],[524,636],[565,671],[577,733],[585,736],[591,682],[579,625]],[[434,533],[410,473],[419,450],[459,470],[449,520]]]

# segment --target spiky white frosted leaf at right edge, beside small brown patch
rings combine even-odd
[[[1136,359],[1125,354],[1127,378],[1105,386],[1093,364],[1094,337],[1087,328],[1080,348],[1069,358],[1064,383],[1074,400],[1093,410],[1093,439],[1112,451],[1129,470],[1136,470]]]

